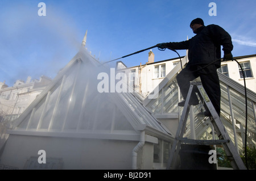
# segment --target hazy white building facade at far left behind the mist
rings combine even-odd
[[[0,82],[0,149],[9,136],[6,134],[8,125],[26,110],[50,82],[51,79],[46,76],[40,79],[29,76],[26,82],[17,80],[11,87]]]

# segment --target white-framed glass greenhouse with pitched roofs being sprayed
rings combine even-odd
[[[187,61],[185,56],[181,64]],[[136,92],[99,92],[98,75],[110,74],[110,69],[82,47],[10,125],[0,165],[13,169],[166,169],[183,111],[177,107],[182,99],[176,82],[180,70],[176,66],[163,79],[153,99]],[[242,154],[245,91],[225,75],[219,73],[219,77],[221,121]],[[247,90],[247,146],[255,145],[255,102],[255,92]],[[218,139],[203,110],[203,103],[191,107],[185,137]]]

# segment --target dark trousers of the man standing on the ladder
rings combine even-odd
[[[190,81],[193,81],[195,78],[200,77],[202,85],[209,96],[210,101],[213,104],[218,115],[220,115],[220,100],[221,100],[221,90],[220,90],[220,80],[218,79],[217,68],[215,65],[209,65],[206,68],[203,68],[205,64],[195,65],[195,66],[186,66],[183,70],[177,74],[177,83],[180,87],[180,92],[184,99],[187,98]],[[195,87],[195,86],[194,86]],[[191,94],[191,100],[198,100],[195,89],[193,89]]]

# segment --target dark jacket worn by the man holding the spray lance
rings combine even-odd
[[[188,65],[209,64],[220,59],[221,45],[224,54],[233,50],[229,33],[215,24],[200,27],[197,35],[187,41],[166,43],[167,48],[188,49]],[[220,68],[221,60],[214,64]]]

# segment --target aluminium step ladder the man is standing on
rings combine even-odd
[[[185,131],[185,125],[188,118],[189,113],[189,99],[191,98],[191,93],[193,90],[193,86],[197,86],[198,93],[200,92],[200,98],[203,98],[203,102],[205,103],[205,106],[207,106],[208,110],[210,111],[210,121],[213,124],[214,130],[216,131],[219,140],[192,140],[188,138],[183,138],[183,134]],[[184,109],[180,118],[179,126],[177,127],[176,136],[174,139],[174,143],[172,145],[172,149],[170,151],[170,157],[167,163],[166,169],[175,169],[176,159],[179,154],[181,142],[193,144],[193,145],[220,145],[222,144],[226,155],[228,156],[228,159],[230,160],[230,163],[233,167],[233,169],[240,169],[245,170],[246,167],[242,162],[242,159],[240,155],[237,152],[237,149],[235,148],[232,140],[230,140],[228,132],[226,132],[226,129],[224,125],[222,124],[220,117],[218,116],[218,113],[213,107],[212,102],[210,102],[210,99],[207,95],[207,93],[204,90],[203,85],[201,85],[201,82],[191,82],[191,85],[188,90],[187,99],[185,100]]]

